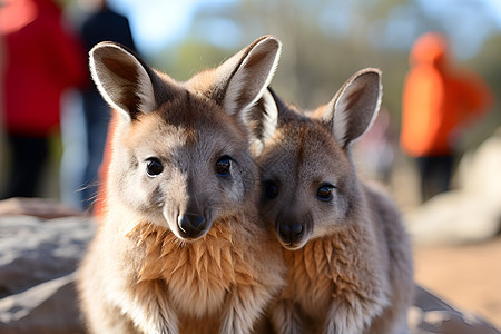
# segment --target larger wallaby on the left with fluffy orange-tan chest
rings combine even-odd
[[[125,47],[90,51],[117,110],[102,222],[78,289],[92,333],[249,333],[284,284],[246,122],[281,42],[255,40],[186,82]]]

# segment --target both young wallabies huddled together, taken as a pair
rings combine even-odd
[[[92,49],[120,117],[78,286],[91,332],[249,333],[264,310],[278,333],[404,332],[407,239],[350,157],[380,73],[360,72],[307,117],[266,90],[279,50],[263,37],[177,82],[118,45]]]

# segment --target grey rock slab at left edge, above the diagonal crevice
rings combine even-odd
[[[0,217],[0,297],[72,273],[94,230],[81,217]]]

